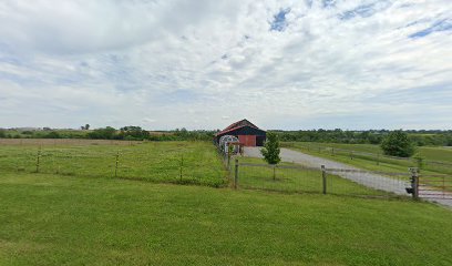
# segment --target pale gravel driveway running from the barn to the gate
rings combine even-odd
[[[261,157],[259,147],[245,147],[244,155],[249,157]],[[280,153],[282,162],[290,162],[302,164],[306,166],[319,167],[325,165],[327,168],[341,168],[341,170],[360,170],[355,166],[350,166],[348,164],[338,163],[335,161],[330,161],[322,157],[317,157],[312,155],[308,155],[298,151],[292,151],[289,149],[281,149]],[[370,174],[370,173],[350,173],[350,172],[335,172],[336,175],[339,175],[343,178],[351,180],[358,184],[364,185],[367,187],[371,187],[374,190],[381,190],[387,192],[392,192],[398,195],[409,195],[405,191],[405,187],[410,186],[409,184],[409,176],[405,176],[405,180],[397,180],[386,177],[379,174]],[[439,195],[442,195],[439,192]],[[430,202],[438,202],[442,205],[446,205],[452,207],[452,200],[442,200],[442,198],[428,198],[423,197]]]

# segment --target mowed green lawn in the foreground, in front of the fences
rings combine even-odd
[[[0,202],[0,265],[452,264],[429,203],[28,173]]]

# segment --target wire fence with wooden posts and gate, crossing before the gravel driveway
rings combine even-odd
[[[235,163],[234,186],[238,188],[452,200],[452,176],[420,175],[417,168],[407,172],[381,172],[294,164],[269,165],[238,160]]]

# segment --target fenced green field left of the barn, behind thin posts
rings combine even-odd
[[[209,142],[131,142],[131,145],[52,143],[41,149],[38,145],[1,145],[0,171],[35,172],[40,153],[40,173],[226,185],[226,173]]]

